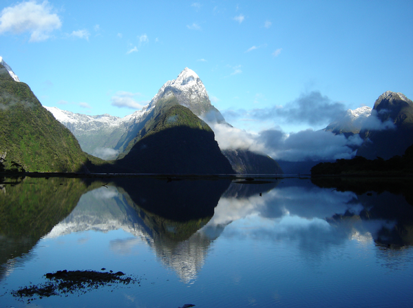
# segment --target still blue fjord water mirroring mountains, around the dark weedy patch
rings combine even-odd
[[[411,307],[411,183],[171,180],[3,179],[0,307]],[[139,283],[12,296],[102,268]]]

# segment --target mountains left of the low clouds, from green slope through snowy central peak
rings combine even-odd
[[[199,76],[188,68],[167,81],[142,110],[123,119],[48,109],[52,113],[1,59],[0,171],[282,173],[269,156],[244,151],[229,161],[229,154],[222,154],[211,127],[200,117],[229,124],[211,105]],[[106,163],[81,147],[118,159]]]

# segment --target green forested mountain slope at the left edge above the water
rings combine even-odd
[[[6,170],[30,172],[76,172],[88,161],[70,130],[54,119],[2,58],[0,157]]]

